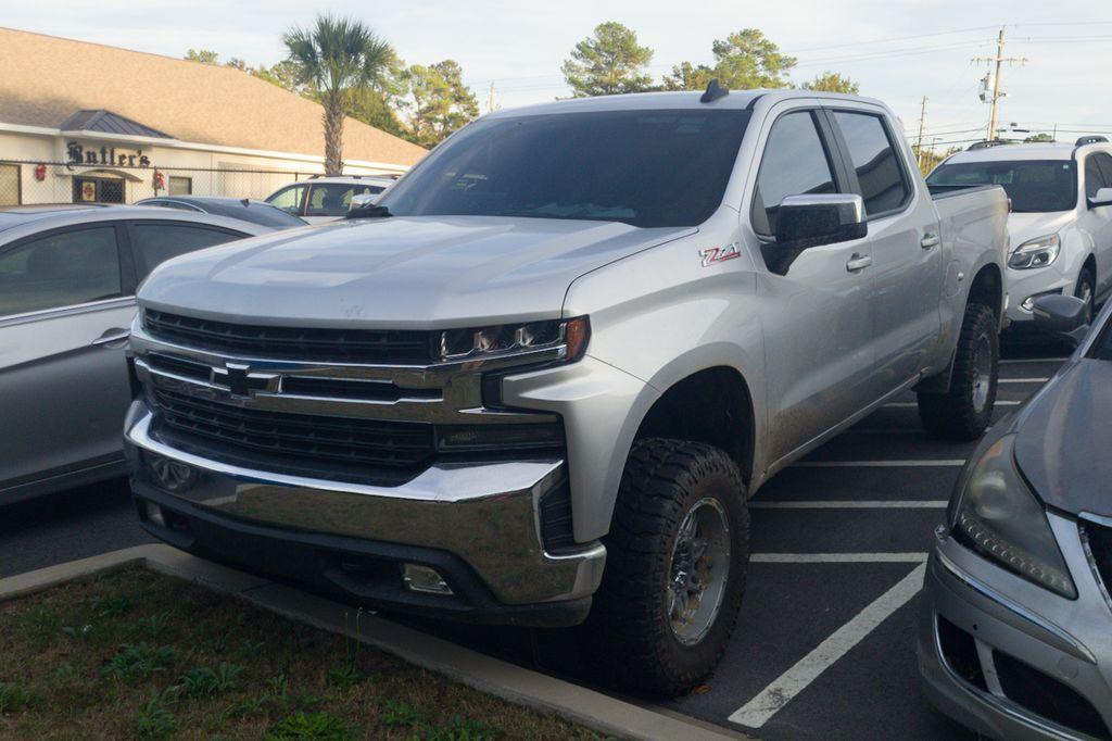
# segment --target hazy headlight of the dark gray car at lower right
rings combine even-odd
[[[959,542],[1071,600],[1078,590],[1042,504],[1015,467],[1015,435],[996,441],[970,474],[954,522]]]

